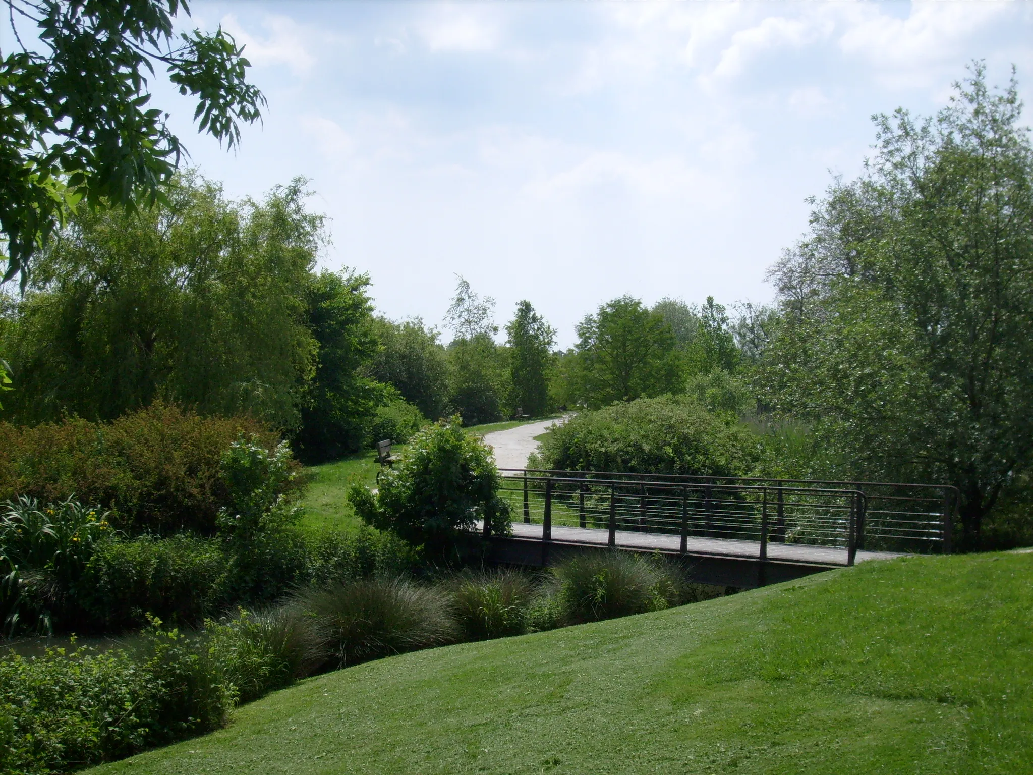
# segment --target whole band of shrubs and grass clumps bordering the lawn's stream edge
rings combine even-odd
[[[368,557],[355,561],[336,567],[376,567]],[[102,653],[50,649],[24,658],[11,652],[0,659],[0,772],[72,770],[202,734],[240,703],[370,659],[722,593],[685,583],[662,559],[619,553],[577,558],[537,576],[468,569],[425,584],[398,576],[334,577],[264,609],[209,619],[193,632],[164,628],[151,617],[138,636]]]

